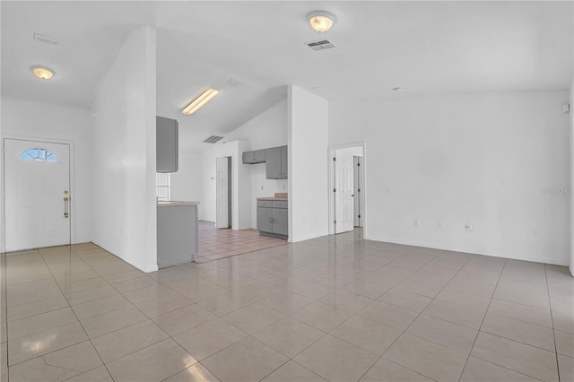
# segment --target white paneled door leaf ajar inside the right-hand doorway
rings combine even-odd
[[[337,152],[335,161],[335,233],[353,230],[353,156]]]

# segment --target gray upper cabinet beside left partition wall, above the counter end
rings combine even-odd
[[[178,121],[155,118],[156,172],[178,172]]]

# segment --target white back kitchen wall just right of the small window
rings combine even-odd
[[[171,200],[199,202],[202,197],[202,156],[179,152],[178,172],[172,172]],[[199,209],[203,207],[200,204]]]

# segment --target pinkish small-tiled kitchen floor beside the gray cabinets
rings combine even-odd
[[[285,239],[259,235],[258,230],[216,229],[213,221],[199,221],[199,251],[196,263],[245,254],[287,244]]]

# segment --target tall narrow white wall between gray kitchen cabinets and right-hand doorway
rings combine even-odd
[[[328,103],[290,85],[288,90],[289,241],[328,231]]]

